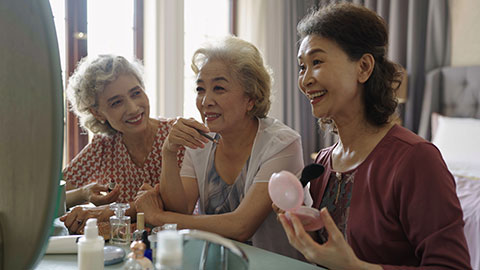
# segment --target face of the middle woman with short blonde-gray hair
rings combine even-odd
[[[213,132],[228,132],[250,120],[254,101],[221,61],[208,61],[197,76],[197,109]]]

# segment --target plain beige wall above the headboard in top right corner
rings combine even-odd
[[[480,1],[450,0],[452,66],[480,65]]]

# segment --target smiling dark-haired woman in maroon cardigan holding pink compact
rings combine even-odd
[[[316,162],[313,239],[279,214],[290,243],[328,269],[471,269],[455,182],[438,149],[391,121],[398,86],[385,22],[338,4],[298,24],[298,84],[339,141]]]

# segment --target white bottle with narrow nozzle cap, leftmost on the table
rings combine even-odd
[[[78,240],[78,269],[103,269],[103,246],[105,240],[98,235],[97,219],[89,218],[85,226],[85,233]]]

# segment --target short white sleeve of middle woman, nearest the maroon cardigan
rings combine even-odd
[[[253,183],[268,182],[273,173],[282,170],[300,175],[303,169],[303,152],[300,139],[295,140],[283,150],[267,160],[255,175]]]

